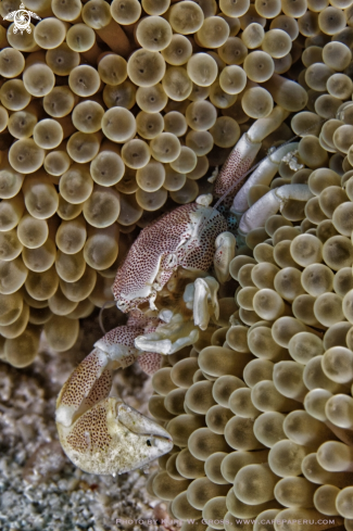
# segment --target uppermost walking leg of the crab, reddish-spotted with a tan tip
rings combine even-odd
[[[244,175],[254,162],[264,138],[275,131],[288,116],[289,112],[277,105],[268,116],[257,119],[240,138],[215,180],[214,194],[219,198],[235,182],[239,184],[227,197],[226,206],[230,206],[234,197],[242,186]]]

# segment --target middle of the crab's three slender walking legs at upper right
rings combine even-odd
[[[230,211],[234,214],[242,214],[249,208],[248,193],[254,185],[268,186],[278,172],[279,164],[289,154],[294,157],[294,152],[298,150],[299,142],[286,143],[269,153],[264,161],[260,163],[256,169],[251,174],[247,182],[240,188],[239,192],[232,201]],[[293,159],[293,163],[295,163]],[[291,161],[289,161],[291,164]]]

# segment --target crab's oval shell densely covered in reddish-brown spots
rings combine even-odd
[[[207,216],[212,216],[211,223]],[[202,224],[204,230],[197,235]],[[117,306],[123,312],[137,308],[165,286],[178,266],[207,270],[214,240],[226,229],[217,211],[196,203],[182,205],[147,227],[117,270],[113,286]]]

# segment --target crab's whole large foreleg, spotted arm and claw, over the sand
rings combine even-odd
[[[156,422],[109,397],[112,370],[140,354],[142,328],[122,326],[106,333],[64,384],[56,402],[56,427],[67,457],[91,473],[123,473],[169,452],[171,437]]]

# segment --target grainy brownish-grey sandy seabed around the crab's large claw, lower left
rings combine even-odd
[[[148,520],[166,507],[146,492],[149,470],[113,478],[84,473],[62,453],[54,422],[56,395],[71,370],[102,334],[87,319],[80,347],[40,354],[26,369],[0,364],[0,529],[2,531],[162,530]],[[112,394],[147,413],[150,379],[137,365],[117,371]],[[116,523],[116,520],[124,520]],[[135,520],[143,519],[142,523]],[[129,521],[134,520],[134,523]]]

